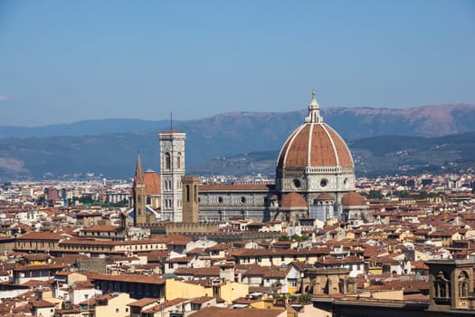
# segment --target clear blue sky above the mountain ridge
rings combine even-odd
[[[0,0],[0,125],[475,103],[473,1]]]

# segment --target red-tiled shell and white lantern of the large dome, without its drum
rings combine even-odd
[[[282,168],[354,168],[347,144],[319,115],[315,91],[309,116],[280,149],[277,170]]]

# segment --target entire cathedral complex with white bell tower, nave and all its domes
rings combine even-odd
[[[185,175],[185,133],[158,133],[160,174],[142,172],[133,185],[135,226],[160,221],[255,221],[330,217],[347,219],[364,207],[355,193],[355,167],[345,141],[323,121],[312,91],[309,114],[284,142],[276,164],[275,185],[200,184]],[[148,175],[147,175],[148,174]]]

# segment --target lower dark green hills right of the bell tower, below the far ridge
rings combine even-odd
[[[475,132],[438,138],[384,136],[347,142],[358,176],[475,172]],[[188,168],[198,175],[274,175],[279,150],[213,159]]]

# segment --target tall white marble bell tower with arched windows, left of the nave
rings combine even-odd
[[[181,222],[182,177],[185,176],[184,132],[166,130],[158,134],[160,140],[160,178],[162,189],[162,221]]]

